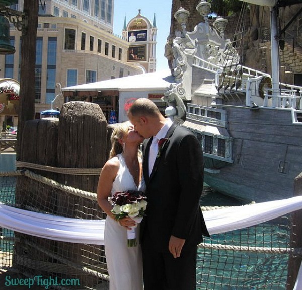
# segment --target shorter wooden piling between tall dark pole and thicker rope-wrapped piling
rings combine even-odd
[[[39,165],[57,166],[58,118],[26,121],[23,128],[20,161]],[[29,169],[30,171],[56,179],[56,173]],[[16,183],[16,206],[48,213],[55,213],[57,193],[49,187],[41,186],[35,180],[18,176]],[[40,264],[50,259],[40,249],[53,252],[56,241],[45,243],[45,239],[15,232],[13,266],[21,273],[41,274]],[[47,246],[46,246],[47,244]],[[34,266],[33,266],[34,265]],[[37,266],[38,265],[38,266]],[[37,269],[39,272],[37,272]]]

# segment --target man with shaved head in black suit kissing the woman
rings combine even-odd
[[[143,142],[147,211],[141,225],[144,290],[195,290],[197,245],[209,236],[199,199],[203,154],[193,133],[149,99],[128,111]],[[160,140],[160,141],[159,141]]]

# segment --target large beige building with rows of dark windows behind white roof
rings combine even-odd
[[[23,2],[20,0],[11,8],[23,11]],[[131,43],[113,34],[114,0],[47,0],[39,1],[39,5],[35,77],[37,118],[41,111],[51,108],[56,97],[53,108],[61,107],[60,89],[63,87],[155,70],[155,48],[154,53],[147,51],[143,63],[129,61]],[[16,53],[0,55],[0,78],[18,81],[21,32],[10,25],[10,41]],[[148,29],[152,29],[149,22]],[[155,40],[153,37],[154,45]],[[147,40],[142,45],[150,47]],[[16,116],[0,116],[1,123],[5,120],[14,126],[16,119]]]

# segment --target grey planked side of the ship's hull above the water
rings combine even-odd
[[[205,182],[244,201],[263,202],[293,196],[302,171],[302,127],[290,109],[228,108],[233,163],[215,168],[205,153]]]

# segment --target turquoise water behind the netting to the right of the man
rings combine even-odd
[[[236,206],[241,202],[205,188],[203,206]],[[282,226],[280,226],[280,224]],[[212,235],[205,243],[286,248],[289,243],[289,219],[269,221],[255,227]],[[206,290],[285,290],[287,254],[199,248],[197,289]]]

